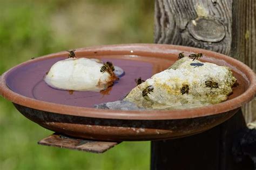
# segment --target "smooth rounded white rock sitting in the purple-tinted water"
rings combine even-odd
[[[103,63],[96,59],[68,58],[52,65],[45,82],[56,89],[100,91],[118,78],[110,72],[100,72]]]

